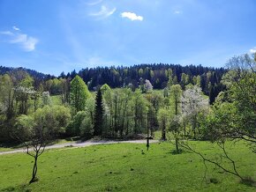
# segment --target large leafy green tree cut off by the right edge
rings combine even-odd
[[[231,58],[228,66],[230,71],[222,79],[228,92],[218,97],[204,124],[205,132],[214,141],[244,139],[255,150],[256,63],[249,55],[240,55]]]

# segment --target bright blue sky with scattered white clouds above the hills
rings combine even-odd
[[[0,0],[0,65],[59,75],[139,63],[222,67],[256,51],[255,0]]]

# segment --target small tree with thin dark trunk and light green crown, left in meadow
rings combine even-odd
[[[64,133],[69,118],[69,109],[61,106],[52,108],[46,106],[36,110],[32,117],[23,114],[18,118],[13,136],[25,144],[26,154],[34,158],[33,174],[29,183],[39,181],[36,176],[37,160],[44,152],[46,144]]]

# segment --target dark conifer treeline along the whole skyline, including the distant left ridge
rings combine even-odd
[[[45,90],[51,94],[59,94],[61,88],[57,87],[58,82],[54,79],[56,77],[50,75],[44,75],[38,73],[35,70],[26,70],[24,68],[6,68],[0,66],[0,74],[6,72],[11,73],[16,70],[22,70],[27,72],[34,78],[34,86],[37,89],[40,84],[45,84]],[[136,89],[141,84],[141,81],[146,79],[151,82],[154,89],[164,89],[171,78],[174,83],[178,83],[182,86],[183,90],[185,85],[199,85],[202,91],[208,96],[211,95],[213,100],[219,92],[223,91],[225,87],[221,84],[222,75],[227,72],[223,68],[215,69],[203,67],[201,65],[189,65],[181,66],[175,64],[139,64],[131,67],[97,67],[86,68],[83,70],[73,70],[71,73],[64,72],[60,74],[59,78],[67,79],[71,81],[76,75],[83,78],[90,91],[95,91],[98,85],[107,84],[111,88],[131,86],[132,89]],[[46,82],[49,80],[48,82]]]

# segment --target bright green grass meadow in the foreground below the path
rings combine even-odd
[[[207,142],[194,147],[214,157],[217,149]],[[145,154],[141,153],[144,149]],[[215,166],[205,167],[188,151],[174,155],[169,143],[105,144],[45,151],[39,159],[40,181],[31,179],[33,159],[24,153],[0,156],[0,190],[19,191],[255,191],[237,177]],[[256,155],[245,144],[230,144],[229,154],[242,175],[256,179]]]

